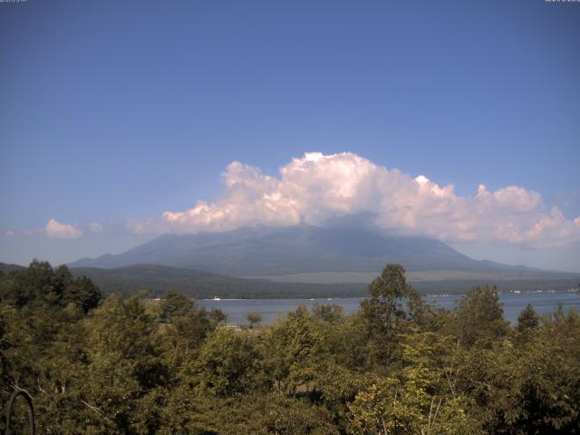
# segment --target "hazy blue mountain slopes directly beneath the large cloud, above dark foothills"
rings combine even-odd
[[[391,237],[359,228],[244,227],[222,233],[164,235],[119,255],[83,258],[71,267],[150,264],[229,276],[314,272],[372,272],[387,263],[409,271],[518,271],[533,269],[477,261],[438,240]]]

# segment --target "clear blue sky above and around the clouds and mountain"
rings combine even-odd
[[[279,177],[307,151],[533,190],[573,222],[579,40],[580,4],[543,0],[0,4],[0,261],[119,252],[154,237],[123,223],[220,198],[232,161]],[[575,240],[452,241],[580,270]]]

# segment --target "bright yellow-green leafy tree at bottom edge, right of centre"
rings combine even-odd
[[[477,433],[469,397],[459,391],[449,364],[449,337],[415,330],[401,343],[401,368],[374,377],[349,404],[353,434]]]

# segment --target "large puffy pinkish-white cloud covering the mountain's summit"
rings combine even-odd
[[[323,225],[336,216],[370,212],[375,224],[394,233],[447,242],[483,241],[525,247],[561,247],[580,241],[580,218],[546,211],[541,195],[509,186],[458,196],[453,185],[412,178],[356,154],[306,153],[270,177],[231,163],[222,175],[225,192],[212,203],[167,211],[173,231],[224,231],[247,225]]]

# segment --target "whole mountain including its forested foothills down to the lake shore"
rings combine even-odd
[[[477,261],[433,239],[389,237],[369,229],[249,227],[224,233],[165,235],[120,255],[84,258],[86,275],[104,293],[169,290],[206,298],[340,297],[367,295],[388,263],[407,268],[421,293],[463,293],[472,285],[509,290],[564,290],[578,274]],[[0,263],[5,275],[22,266]]]

